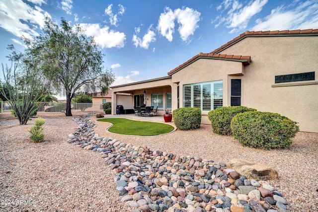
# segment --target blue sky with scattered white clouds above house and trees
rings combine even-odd
[[[21,37],[38,36],[45,16],[93,36],[120,85],[167,76],[246,30],[318,29],[318,0],[0,0],[0,63],[10,66],[7,45],[23,52]]]

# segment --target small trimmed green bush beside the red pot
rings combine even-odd
[[[195,107],[184,107],[172,112],[173,122],[179,130],[194,130],[200,128],[201,110]]]

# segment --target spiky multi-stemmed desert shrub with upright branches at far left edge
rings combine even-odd
[[[39,70],[29,66],[27,55],[17,54],[13,45],[9,45],[8,49],[12,50],[12,55],[8,56],[11,66],[1,64],[4,77],[2,95],[11,106],[20,125],[25,125],[29,118],[36,114],[36,102],[45,90],[45,85],[42,84]]]

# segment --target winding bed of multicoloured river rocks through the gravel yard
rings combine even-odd
[[[69,143],[97,152],[118,173],[121,202],[134,212],[288,212],[287,202],[267,181],[240,176],[225,163],[175,155],[94,133],[90,115],[74,118]]]

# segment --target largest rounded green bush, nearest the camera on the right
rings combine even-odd
[[[231,129],[243,146],[262,149],[288,148],[299,127],[285,116],[269,112],[246,112],[233,117]]]

